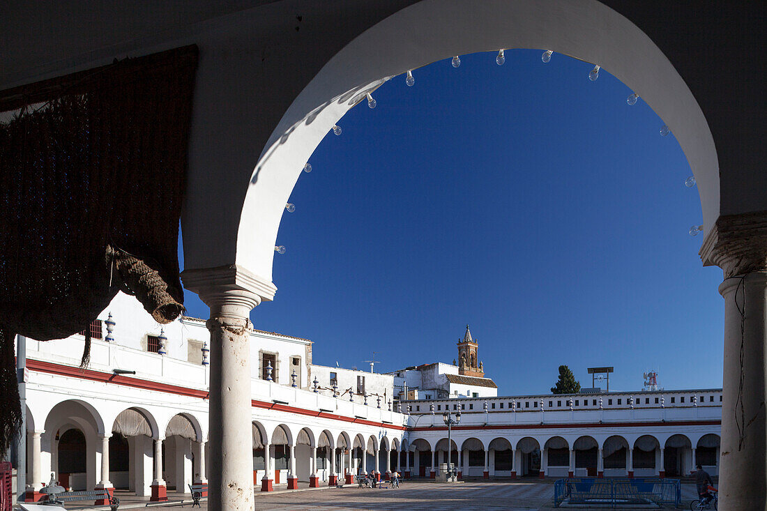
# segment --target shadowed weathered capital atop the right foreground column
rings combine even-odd
[[[719,216],[698,254],[704,266],[723,269],[725,279],[767,270],[767,211]]]

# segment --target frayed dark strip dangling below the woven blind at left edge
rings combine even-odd
[[[14,339],[15,335],[0,327],[0,457],[8,451],[21,430]]]

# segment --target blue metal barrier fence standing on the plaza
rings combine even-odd
[[[554,483],[554,506],[572,507],[679,507],[680,481],[676,479],[596,479],[576,477]]]

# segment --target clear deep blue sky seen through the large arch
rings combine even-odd
[[[314,363],[377,371],[456,358],[467,323],[499,394],[548,393],[568,364],[611,388],[660,372],[721,387],[719,269],[697,255],[690,166],[607,71],[542,51],[462,55],[395,77],[302,173],[255,328],[314,341]],[[208,316],[187,292],[190,315]]]

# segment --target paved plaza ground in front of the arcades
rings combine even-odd
[[[120,495],[118,494],[118,496]],[[400,489],[392,490],[357,488],[357,485],[354,484],[343,488],[320,490],[256,492],[255,509],[281,509],[283,511],[298,511],[298,509],[344,511],[349,509],[403,509],[405,511],[506,509],[508,511],[529,511],[531,509],[555,509],[552,504],[553,496],[553,480],[541,482],[522,480],[513,483],[469,481],[458,484],[405,482]],[[171,501],[176,501],[176,505],[172,509],[180,509],[178,502],[181,499],[185,501],[183,503],[184,509],[190,507],[189,496],[169,493],[168,498]],[[683,509],[688,509],[690,500],[694,498],[695,485],[684,483],[682,485]],[[136,499],[135,497],[130,499],[130,497],[123,498],[123,496],[120,496],[120,499],[120,509],[139,507],[146,509],[145,499]],[[169,509],[170,504],[158,507]],[[69,509],[74,509],[74,507]],[[202,501],[201,509],[207,509],[205,500]]]

